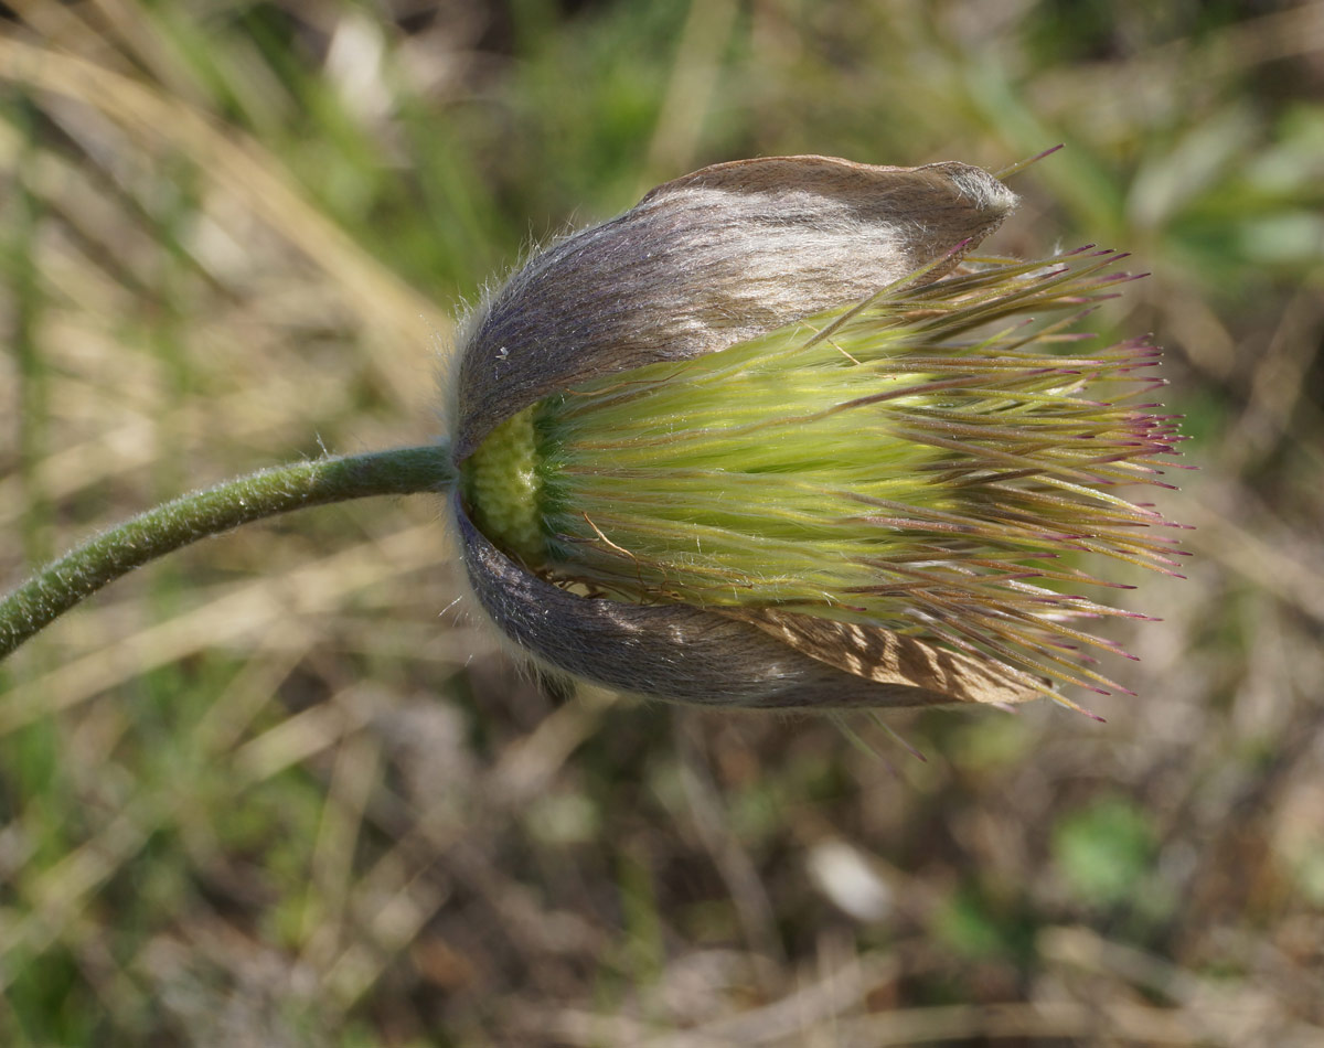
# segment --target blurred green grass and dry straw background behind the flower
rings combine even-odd
[[[9,0],[0,584],[438,431],[450,318],[704,163],[1018,176],[1131,249],[1200,472],[1107,724],[543,695],[426,499],[249,528],[0,667],[0,1043],[1324,1043],[1324,4]]]

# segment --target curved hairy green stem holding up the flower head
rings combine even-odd
[[[262,517],[368,495],[444,491],[446,445],[295,462],[195,491],[126,520],[52,561],[0,599],[0,659],[85,597],[180,546]]]

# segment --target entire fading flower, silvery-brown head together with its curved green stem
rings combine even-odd
[[[972,254],[1014,206],[959,163],[666,183],[466,319],[446,439],[154,509],[5,597],[0,654],[205,535],[434,492],[473,603],[544,670],[838,711],[1115,688],[1090,651],[1117,648],[1082,622],[1133,613],[1076,561],[1172,573],[1174,525],[1123,491],[1162,486],[1180,438],[1145,402],[1156,348],[1071,331],[1121,255]]]

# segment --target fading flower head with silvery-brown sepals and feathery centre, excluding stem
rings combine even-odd
[[[1008,498],[1022,515],[1026,500],[1049,505],[1057,496],[1025,482],[1039,468],[1037,463],[1025,467],[1025,449],[993,446],[972,435],[972,430],[990,422],[1005,427],[1008,408],[1002,401],[996,409],[981,409],[982,414],[967,410],[959,418],[951,415],[955,409],[932,390],[959,390],[984,380],[970,378],[965,371],[957,374],[948,361],[935,360],[940,351],[915,333],[929,323],[923,318],[944,311],[968,319],[963,320],[965,327],[980,319],[981,310],[992,319],[1018,311],[1018,306],[1006,303],[1022,292],[1013,294],[1006,283],[992,286],[992,278],[985,279],[989,291],[980,284],[980,277],[963,275],[972,271],[963,265],[965,253],[997,229],[1014,206],[1016,196],[1002,183],[960,163],[891,168],[818,156],[744,160],[703,168],[661,185],[625,214],[560,240],[531,258],[467,319],[449,389],[453,457],[467,478],[449,496],[450,515],[478,606],[543,667],[677,701],[764,708],[1005,704],[1046,693],[1054,676],[1083,683],[1055,674],[1061,638],[1053,634],[1058,627],[1051,623],[1106,609],[1090,603],[1074,605],[1062,614],[1055,607],[1041,613],[1031,605],[1045,598],[1034,594],[1047,594],[1050,602],[1057,594],[1021,581],[1061,577],[1061,572],[1041,570],[1042,561],[1057,553],[1026,554],[1022,560],[1038,561],[1037,569],[1008,570],[982,556],[981,548],[948,543],[953,531],[977,532],[982,527],[978,519],[967,523],[949,512],[952,499],[965,500],[968,491],[981,492],[970,502],[974,505],[998,484],[1019,484],[1014,492],[1008,488]],[[1008,281],[1033,283],[1041,278],[1029,265],[1008,273]],[[936,291],[933,298],[923,299],[925,288],[947,287],[964,312]],[[891,290],[904,308],[888,304]],[[1033,298],[1042,292],[1031,288],[1026,294]],[[1079,302],[1082,295],[1072,284],[1050,307],[1059,308],[1068,299]],[[985,306],[993,299],[1001,303],[1001,311]],[[918,340],[919,348],[903,347],[914,361],[899,365],[892,376],[883,365],[892,353],[888,340],[895,341],[898,331],[914,335],[911,341]],[[943,337],[948,336],[937,337],[935,345]],[[978,368],[1005,372],[1006,360],[1014,363],[1027,341],[993,343],[997,353],[988,351],[988,360],[981,360],[970,374],[981,373]],[[824,344],[833,348],[825,351]],[[801,401],[794,401],[788,389],[785,410],[792,417],[739,418],[745,394],[753,396],[753,382],[767,389],[768,381],[780,381],[765,357],[789,360],[806,347],[829,352],[829,360],[816,360],[816,371],[796,372],[796,377],[788,371],[788,384],[801,382],[805,374],[829,374],[825,367],[831,369],[831,382],[839,382],[849,380],[849,369],[858,365],[859,373],[867,371],[874,382],[859,388],[858,402],[895,400],[906,406],[888,405],[894,415],[888,415],[887,425],[898,431],[915,430],[904,441],[878,438],[884,441],[878,445],[879,454],[895,459],[891,467],[880,468],[900,474],[882,476],[876,483],[870,479],[859,492],[833,487],[833,498],[845,499],[845,505],[858,503],[859,508],[842,513],[838,507],[835,517],[824,520],[810,520],[801,509],[769,502],[776,499],[776,494],[769,496],[769,486],[786,472],[785,463],[760,466],[752,459],[703,458],[703,441],[714,430],[714,418],[718,429],[753,434],[745,443],[757,459],[760,442],[781,446],[784,438],[793,441],[804,425],[801,419],[858,410],[849,394],[842,400],[842,394],[825,388],[820,404],[813,400],[817,388]],[[1140,344],[1123,348],[1131,356],[1144,356],[1148,349]],[[899,359],[902,351],[896,355]],[[1124,365],[1091,364],[1127,372],[1151,363],[1131,356]],[[700,359],[702,364],[694,364]],[[747,367],[741,360],[755,363]],[[1031,363],[1039,364],[1041,359]],[[703,401],[708,414],[681,422],[620,414],[636,408],[663,410],[647,408],[650,401],[642,394],[634,404],[638,390],[649,390],[666,404],[667,396],[675,396],[669,384],[694,382],[696,389],[708,389],[711,376],[692,376],[687,369],[694,368],[719,373],[727,369],[736,376],[733,385],[715,386],[718,392]],[[915,380],[922,382],[914,388],[915,396],[894,397],[888,385],[876,392],[878,382],[904,378],[916,369],[923,374]],[[1092,404],[1070,396],[1067,380],[1053,389],[1042,388],[1045,380],[1039,376],[1046,371],[1022,367],[1016,372],[1021,377],[1008,386],[1022,390],[1016,396],[1031,405],[1026,412],[1042,414],[1034,405],[1053,397],[1071,405]],[[1026,382],[1037,384],[1030,393],[1023,392],[1030,389]],[[724,397],[731,400],[730,426],[720,406]],[[604,405],[604,410],[593,417],[588,404]],[[621,418],[626,419],[624,426]],[[880,425],[874,415],[859,418],[866,429]],[[1124,418],[1136,431],[1153,427],[1137,421],[1141,415]],[[675,450],[669,443],[671,429],[683,430],[687,422],[692,423],[686,439],[694,458],[678,468],[659,466]],[[1038,423],[1055,425],[1042,418]],[[1107,435],[1112,427],[1110,422],[1098,434],[1072,435],[1094,438]],[[622,433],[620,446],[609,449],[609,442],[602,442],[604,431]],[[1143,434],[1151,455],[1168,450],[1156,431]],[[563,437],[568,443],[583,438],[584,446],[563,455],[557,445]],[[1116,462],[1139,455],[1125,450],[1133,443],[1096,458]],[[649,447],[657,449],[657,459]],[[861,466],[867,466],[866,455],[875,454],[871,447],[861,445]],[[608,450],[600,455],[594,449]],[[849,458],[854,449],[854,442],[842,442],[842,457]],[[818,449],[810,447],[806,454],[822,458]],[[691,460],[703,468],[690,468],[686,463]],[[904,474],[902,467],[911,466],[914,475]],[[659,472],[665,468],[671,472]],[[1053,462],[1047,472],[1058,470],[1070,476],[1072,468],[1072,463]],[[535,470],[539,476],[544,470],[549,471],[547,476],[556,470],[563,474],[544,483],[545,476],[534,478]],[[1099,487],[1117,482],[1112,467],[1092,470]],[[700,474],[707,487],[694,487]],[[610,478],[614,487],[605,502],[594,502],[592,486],[602,478]],[[587,487],[576,487],[580,482]],[[749,484],[744,502],[736,482]],[[940,482],[947,487],[939,487]],[[1121,482],[1129,483],[1131,478]],[[659,487],[650,490],[650,483]],[[805,474],[785,478],[784,483],[794,502],[813,484],[828,482]],[[879,495],[892,490],[888,484],[900,484],[898,490],[914,494],[914,502],[923,505],[914,512],[898,511],[890,498]],[[936,491],[947,494],[935,500]],[[526,505],[530,492],[538,492],[532,512]],[[692,515],[685,508],[690,498],[698,500]],[[1108,495],[1099,498],[1115,502]],[[704,504],[727,499],[730,504],[711,512]],[[637,505],[649,507],[649,513],[657,511],[662,523],[646,513],[630,516],[630,507]],[[1124,505],[1132,513],[1132,525],[1144,527],[1135,521],[1147,517],[1148,511]],[[620,521],[617,508],[624,513]],[[961,502],[960,508],[964,512],[968,507]],[[761,511],[771,523],[740,523]],[[1098,511],[1098,505],[1090,505],[1094,517],[1103,520]],[[1125,516],[1125,511],[1119,512]],[[992,515],[997,528],[1010,529],[994,537],[1014,549],[1022,537],[1012,532],[1022,525],[1006,523],[1009,513],[998,509]],[[1110,513],[1112,523],[1098,528],[1116,528],[1112,517],[1117,513]],[[728,528],[732,519],[737,520],[733,531]],[[831,528],[838,524],[854,531],[837,536]],[[821,556],[812,545],[788,545],[788,527],[802,528],[806,536],[818,535],[828,543],[822,549],[833,552],[826,560],[834,560],[841,549],[850,572],[865,574],[846,573],[839,591],[816,589],[820,584],[814,564]],[[662,552],[650,552],[658,533],[665,533],[658,540]],[[710,541],[714,535],[718,539]],[[722,546],[723,536],[733,536],[731,550]],[[890,536],[899,536],[896,548],[904,556],[894,556]],[[1057,537],[1063,540],[1061,545],[1091,549],[1095,532]],[[715,550],[710,549],[714,541]],[[698,550],[695,556],[687,552],[690,545]],[[1135,546],[1128,537],[1121,540],[1123,553],[1107,552],[1133,560]],[[759,560],[764,549],[771,550],[767,564]],[[931,569],[928,565],[945,557],[948,549],[949,562]],[[794,568],[801,553],[808,569]],[[711,562],[700,562],[703,556]],[[789,577],[797,572],[802,578]],[[907,572],[915,577],[927,572],[922,595],[908,602]],[[933,582],[933,572],[947,574]],[[973,625],[953,621],[963,619],[967,609],[960,599],[944,595],[952,578],[960,586],[967,576],[973,580],[968,588]],[[861,580],[863,585],[846,585]],[[989,593],[1001,589],[997,599],[981,602],[981,588],[992,588]],[[964,599],[965,590],[959,597]],[[1008,627],[1013,631],[1008,643],[1029,644],[1029,656],[1004,650],[1001,626],[980,625],[981,617],[1017,619],[1022,615],[1017,603],[1022,597],[1030,609],[1023,614],[1033,618],[1026,634],[1030,640],[1013,626]],[[949,606],[951,599],[957,603]],[[895,618],[890,611],[894,606]],[[1041,634],[1053,635],[1045,640]]]

